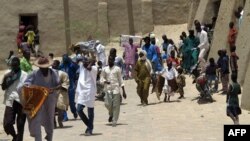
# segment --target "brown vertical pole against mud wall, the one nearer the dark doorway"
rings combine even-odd
[[[70,19],[69,19],[69,0],[63,0],[63,7],[64,7],[64,22],[65,22],[66,52],[69,53],[69,46],[71,45]]]

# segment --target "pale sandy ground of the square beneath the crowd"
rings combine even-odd
[[[160,39],[163,33],[178,41],[178,36],[185,31],[185,25],[157,26],[155,33]],[[118,43],[111,43],[107,47],[117,47]],[[121,55],[122,48],[118,48]],[[3,71],[0,72],[2,79]],[[186,76],[185,99],[178,100],[178,94],[172,97],[172,102],[158,101],[155,94],[149,95],[149,105],[141,106],[136,94],[134,80],[125,81],[128,98],[123,100],[117,127],[108,124],[108,112],[102,101],[95,103],[94,135],[85,136],[85,125],[78,118],[64,123],[64,128],[54,130],[54,141],[85,140],[85,141],[222,141],[223,125],[232,124],[226,116],[226,96],[214,94],[213,103],[203,103],[197,100],[198,92],[191,84],[192,79]],[[221,88],[221,87],[220,87]],[[0,91],[0,101],[3,92]],[[4,105],[0,105],[0,141],[11,141],[3,130],[2,119]],[[243,110],[240,115],[241,124],[250,124],[250,112]],[[42,128],[43,130],[43,128]],[[34,140],[29,136],[27,124],[25,126],[24,141]],[[43,136],[45,133],[43,131]]]

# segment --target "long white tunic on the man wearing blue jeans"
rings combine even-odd
[[[96,94],[97,67],[91,71],[80,64],[80,75],[76,87],[76,103],[86,107],[94,107]]]

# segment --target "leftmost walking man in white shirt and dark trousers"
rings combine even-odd
[[[26,115],[20,102],[20,91],[27,74],[20,69],[20,60],[14,57],[11,61],[11,70],[3,78],[2,90],[4,93],[5,112],[3,119],[4,131],[13,137],[13,141],[22,141]],[[16,120],[16,121],[15,121]],[[17,133],[14,124],[17,124]]]

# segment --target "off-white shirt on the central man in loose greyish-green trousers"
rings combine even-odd
[[[104,81],[110,82],[110,84],[105,84],[105,90],[113,92],[113,94],[120,94],[120,87],[124,86],[121,69],[117,66],[110,68],[106,66],[102,71],[101,83]]]

